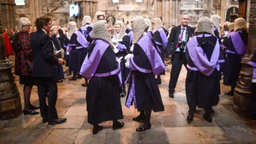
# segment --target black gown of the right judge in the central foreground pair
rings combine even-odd
[[[148,57],[138,44],[134,44],[133,61],[143,69],[152,70]],[[142,73],[139,70],[131,70],[134,76],[135,100],[138,111],[152,109],[155,112],[164,111],[161,94],[153,73]],[[132,86],[132,76],[130,76],[129,91],[126,98],[129,98]]]

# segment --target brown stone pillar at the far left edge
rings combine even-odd
[[[12,63],[5,57],[3,27],[15,28],[14,0],[0,0],[0,120],[21,114],[20,93],[12,74]],[[3,18],[2,18],[3,15]]]

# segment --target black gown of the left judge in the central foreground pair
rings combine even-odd
[[[102,55],[95,74],[103,74],[118,68],[113,49],[109,46]],[[88,123],[123,119],[118,75],[92,77],[86,91]]]

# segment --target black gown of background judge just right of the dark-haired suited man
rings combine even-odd
[[[76,47],[81,46],[80,43],[77,42],[77,35],[74,33],[69,41],[69,47],[71,51],[69,52],[69,71],[73,71],[73,73],[79,73],[79,53],[82,49],[76,49]]]

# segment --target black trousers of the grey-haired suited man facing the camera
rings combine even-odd
[[[178,82],[182,65],[184,65],[187,69],[187,63],[188,61],[186,59],[185,53],[175,52],[172,58],[172,70],[171,70],[171,77],[169,82],[169,93],[175,92],[175,87]]]

